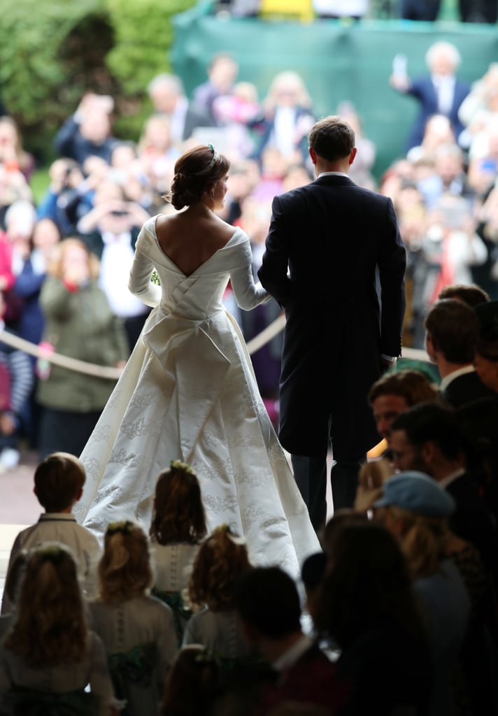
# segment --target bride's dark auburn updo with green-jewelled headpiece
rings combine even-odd
[[[175,175],[167,199],[176,209],[200,201],[203,193],[224,177],[229,160],[213,145],[193,147],[176,160]]]

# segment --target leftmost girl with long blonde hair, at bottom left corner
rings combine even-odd
[[[102,642],[85,622],[75,559],[62,544],[29,553],[16,619],[0,646],[0,697],[2,713],[14,715],[118,715]]]

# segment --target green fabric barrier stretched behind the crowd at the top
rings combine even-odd
[[[219,19],[211,4],[199,4],[173,20],[174,71],[186,92],[206,80],[206,66],[216,52],[239,62],[239,79],[254,82],[260,99],[277,72],[294,69],[305,80],[318,117],[334,114],[343,100],[353,102],[365,135],[377,146],[377,177],[404,155],[405,140],[418,109],[412,97],[389,85],[393,57],[408,57],[411,77],[426,74],[425,54],[437,40],[459,48],[459,77],[482,77],[498,61],[498,33],[493,25],[403,20],[295,21],[255,18]]]

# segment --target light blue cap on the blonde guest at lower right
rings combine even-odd
[[[383,496],[373,506],[388,505],[396,505],[424,517],[449,517],[456,506],[451,495],[436,480],[416,470],[406,470],[386,480]]]

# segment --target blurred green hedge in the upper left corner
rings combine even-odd
[[[137,139],[145,89],[171,70],[172,18],[196,0],[0,0],[0,87],[39,163],[87,90],[115,97],[115,134]]]

